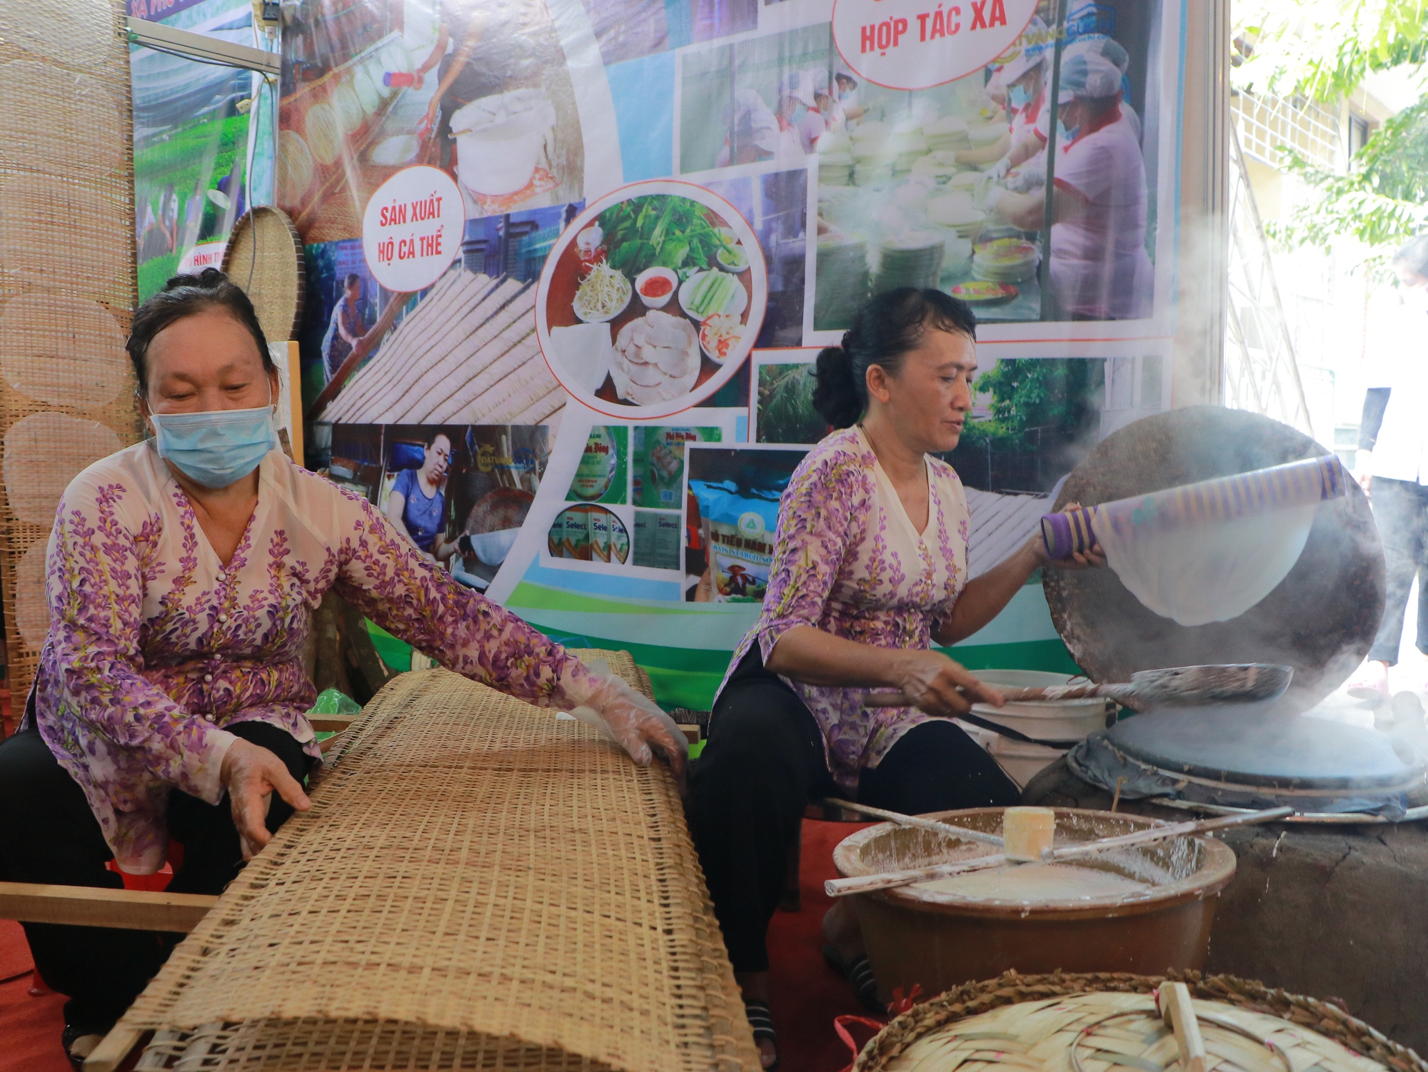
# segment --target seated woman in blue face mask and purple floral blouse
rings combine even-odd
[[[169,889],[218,894],[293,814],[320,759],[304,712],[313,608],[333,588],[443,665],[543,707],[585,704],[637,762],[683,768],[683,735],[434,568],[371,504],[277,450],[278,378],[248,298],[180,275],[134,314],[153,438],[66,488],[50,535],[50,628],[19,734],[0,744],[0,878],[119,888],[184,846]],[[23,818],[21,818],[23,816]],[[69,995],[79,1061],[167,956],[140,931],[26,925]]]

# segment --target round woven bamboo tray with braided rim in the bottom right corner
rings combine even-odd
[[[914,1006],[858,1053],[854,1072],[1160,1072],[1178,1066],[1154,991],[1187,983],[1207,1072],[1428,1072],[1414,1051],[1328,1002],[1201,972],[1018,975],[957,986]]]

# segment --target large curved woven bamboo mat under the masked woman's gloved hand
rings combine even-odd
[[[664,768],[440,669],[348,738],[121,1021],[141,1068],[757,1072]]]

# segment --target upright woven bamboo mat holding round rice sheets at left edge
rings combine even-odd
[[[47,615],[43,595],[20,607],[17,594],[33,585],[64,484],[139,438],[139,418],[123,350],[134,305],[127,6],[14,10],[0,34],[0,590],[9,684],[23,697]]]

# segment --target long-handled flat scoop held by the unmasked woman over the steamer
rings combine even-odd
[[[1272,662],[1240,662],[1205,667],[1170,667],[1131,674],[1124,684],[1048,685],[1044,688],[998,688],[1004,699],[1105,698],[1135,711],[1158,707],[1205,707],[1210,704],[1255,704],[1284,695],[1294,667]],[[864,707],[917,707],[905,692],[870,692]]]

